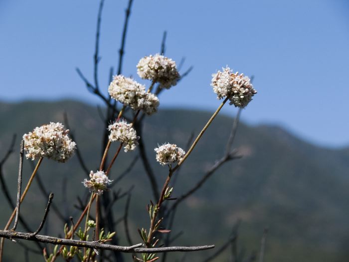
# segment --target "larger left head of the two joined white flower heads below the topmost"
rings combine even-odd
[[[138,100],[144,96],[146,88],[132,78],[116,75],[109,85],[108,92],[115,100],[138,110]]]

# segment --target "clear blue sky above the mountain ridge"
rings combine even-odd
[[[0,0],[0,100],[77,98],[92,80],[97,0]],[[100,80],[117,65],[127,0],[105,0]],[[320,145],[349,145],[347,0],[134,0],[123,73],[159,52],[192,72],[161,96],[163,107],[214,110],[211,74],[229,65],[254,75],[258,94],[243,111],[251,124],[273,123]],[[140,79],[138,79],[140,80]],[[140,80],[149,84],[149,82]],[[226,105],[223,113],[234,115]]]

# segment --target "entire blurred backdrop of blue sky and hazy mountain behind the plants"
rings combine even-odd
[[[99,63],[104,94],[110,67],[115,74],[118,65],[127,4],[104,3]],[[19,144],[23,133],[48,121],[63,121],[66,112],[88,168],[98,165],[104,125],[96,106],[103,103],[86,90],[75,70],[79,67],[93,81],[98,6],[96,0],[0,1],[0,158],[13,133]],[[259,251],[268,228],[265,261],[349,260],[348,11],[347,0],[134,0],[122,73],[149,85],[137,75],[136,64],[160,52],[164,31],[166,56],[177,64],[185,58],[181,72],[193,66],[177,86],[161,94],[159,114],[145,121],[147,152],[160,184],[164,169],[156,164],[153,149],[165,141],[184,147],[190,133],[199,132],[220,104],[210,87],[212,73],[228,65],[253,75],[258,91],[242,110],[234,143],[243,158],[219,169],[181,207],[174,231],[184,233],[175,244],[222,245],[240,219],[238,245],[246,256]],[[233,106],[224,106],[181,171],[178,194],[224,153],[236,113]],[[127,168],[137,154],[123,154],[115,172]],[[14,154],[3,167],[11,189],[16,188],[16,163]],[[59,193],[65,188],[75,199],[74,189],[84,174],[76,158],[69,163],[47,161],[42,179],[47,190]],[[29,164],[26,169],[30,173]],[[152,197],[142,172],[137,163],[120,185],[136,186],[130,214],[135,243],[137,228],[148,225],[147,201],[136,199]],[[0,199],[5,202],[1,194]],[[64,201],[55,199],[57,205]],[[41,214],[45,202],[32,194],[27,205]],[[23,212],[34,225],[41,217],[33,217],[29,208]],[[77,210],[70,206],[64,212]],[[3,224],[8,214],[1,214]],[[53,232],[59,234],[62,227]],[[125,244],[122,232],[120,241]],[[185,259],[204,261],[209,255]],[[22,254],[15,256],[23,259]],[[229,259],[226,252],[215,261]],[[184,258],[169,258],[176,260]]]

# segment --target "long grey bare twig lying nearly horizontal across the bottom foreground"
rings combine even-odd
[[[200,250],[208,250],[213,249],[214,245],[210,246],[198,246],[198,247],[166,247],[166,248],[134,248],[130,249],[130,247],[124,246],[114,246],[103,244],[98,241],[81,241],[81,240],[71,240],[71,239],[61,239],[54,238],[50,236],[42,236],[36,235],[34,237],[31,236],[32,233],[21,233],[21,232],[13,232],[13,231],[3,231],[0,230],[0,237],[6,239],[24,239],[28,241],[36,241],[40,243],[49,243],[54,245],[64,245],[71,247],[79,247],[79,248],[92,248],[92,249],[100,249],[100,250],[111,250],[118,251],[123,253],[164,253],[164,252],[192,252],[192,251],[200,251]]]

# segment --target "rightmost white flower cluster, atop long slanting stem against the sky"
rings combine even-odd
[[[213,91],[217,94],[217,99],[228,97],[230,104],[235,107],[244,108],[252,100],[257,91],[253,88],[250,78],[231,72],[229,67],[222,68],[212,74]]]

